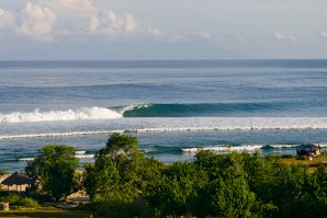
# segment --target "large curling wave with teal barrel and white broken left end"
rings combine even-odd
[[[66,111],[0,113],[0,123],[116,119],[122,117],[263,117],[294,111],[296,103],[203,103],[203,104],[133,104],[113,107],[82,107]],[[281,115],[281,114],[279,114]],[[282,116],[284,116],[282,114]]]

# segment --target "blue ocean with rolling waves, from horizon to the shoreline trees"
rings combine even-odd
[[[0,61],[0,169],[45,145],[92,162],[111,133],[146,156],[190,161],[199,148],[295,154],[327,146],[327,60]]]

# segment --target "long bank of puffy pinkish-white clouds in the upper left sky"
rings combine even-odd
[[[0,9],[0,31],[52,42],[60,36],[117,37],[134,34],[138,22],[128,12],[97,7],[92,0],[44,0],[27,2],[15,13]],[[4,31],[3,31],[4,32]]]

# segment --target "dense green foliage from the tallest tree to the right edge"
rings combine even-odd
[[[104,217],[325,217],[322,165],[286,165],[258,153],[200,151],[193,162],[146,158],[136,138],[113,134],[87,164],[84,187]]]

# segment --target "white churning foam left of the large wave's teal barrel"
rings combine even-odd
[[[0,123],[32,123],[32,122],[57,122],[57,121],[83,121],[83,119],[114,119],[123,117],[122,114],[104,107],[82,107],[79,110],[49,111],[10,114],[0,114]]]

